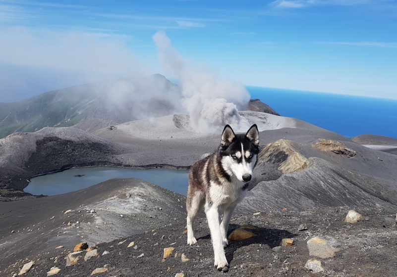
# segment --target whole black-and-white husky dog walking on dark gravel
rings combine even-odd
[[[228,270],[224,251],[228,245],[227,229],[234,208],[247,193],[247,182],[251,180],[258,152],[256,124],[245,135],[234,134],[226,125],[218,150],[190,169],[186,199],[187,244],[197,242],[193,234],[193,220],[204,206],[214,248],[214,264],[218,270]]]

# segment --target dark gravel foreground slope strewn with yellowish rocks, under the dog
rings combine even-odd
[[[213,266],[209,229],[206,220],[201,218],[196,221],[198,242],[194,246],[186,244],[185,223],[179,222],[108,243],[90,244],[88,250],[91,251],[75,254],[74,257],[80,257],[75,265],[66,266],[72,247],[53,247],[16,261],[0,274],[14,276],[24,264],[33,261],[34,265],[24,276],[48,276],[56,267],[59,270],[56,276],[64,277],[395,277],[396,214],[385,210],[358,210],[362,219],[345,223],[348,210],[348,207],[303,212],[284,209],[233,216],[229,232],[249,228],[245,230],[255,236],[230,242],[226,248],[230,264],[227,273],[218,272]],[[68,227],[69,230],[75,228]],[[314,237],[322,240],[318,239],[317,245],[309,250],[308,241]],[[280,247],[284,238],[291,238],[292,244]],[[173,249],[164,259],[164,249],[169,247]],[[84,257],[90,254],[93,257],[85,261]],[[103,273],[95,274],[95,270]]]

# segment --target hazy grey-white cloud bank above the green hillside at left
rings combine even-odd
[[[0,102],[149,73],[117,36],[3,27],[0,38]]]

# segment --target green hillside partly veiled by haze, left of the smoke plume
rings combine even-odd
[[[147,103],[136,102],[137,95],[145,95],[148,91],[165,98],[170,93],[180,93],[177,85],[156,74],[139,79],[79,85],[18,102],[0,103],[0,138],[14,132],[35,132],[44,127],[69,127],[86,122],[85,126],[95,125],[98,129],[139,119],[132,110],[149,105],[150,99]],[[115,105],[112,100],[117,95],[123,98]],[[162,107],[160,115],[170,114],[174,108],[170,104]],[[158,108],[156,112],[159,112]]]

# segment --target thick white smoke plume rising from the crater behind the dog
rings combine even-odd
[[[237,112],[246,107],[250,99],[244,86],[187,64],[172,48],[171,41],[164,32],[156,33],[153,40],[159,49],[159,59],[164,70],[179,79],[182,85],[182,105],[190,116],[194,130],[217,133],[226,124],[236,132],[249,128],[248,121]]]

